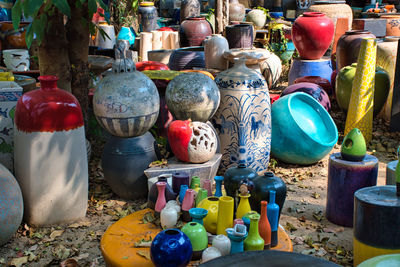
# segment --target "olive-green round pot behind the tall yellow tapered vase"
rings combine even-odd
[[[357,63],[342,68],[336,78],[336,100],[339,107],[347,112],[350,103],[353,80],[357,70]],[[374,86],[374,115],[376,116],[386,102],[390,90],[389,74],[382,68],[376,67]]]

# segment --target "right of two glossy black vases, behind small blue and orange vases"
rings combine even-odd
[[[250,188],[251,197],[249,199],[252,210],[260,213],[260,203],[262,200],[269,202],[269,191],[275,190],[276,199],[275,203],[279,205],[279,218],[283,209],[283,204],[286,199],[286,184],[285,182],[275,176],[272,172],[266,172],[262,176],[257,176],[253,180],[253,188]]]

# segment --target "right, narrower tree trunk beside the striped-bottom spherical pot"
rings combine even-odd
[[[89,19],[87,2],[79,8],[75,6],[75,2],[75,0],[69,1],[71,19],[68,20],[66,25],[72,73],[71,89],[81,105],[85,128],[87,129],[90,79],[88,64],[90,32],[88,22],[91,21],[91,19]]]

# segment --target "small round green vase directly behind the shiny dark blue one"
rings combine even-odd
[[[197,222],[189,222],[182,227],[181,231],[186,234],[193,248],[193,260],[200,259],[201,253],[207,248],[207,231],[203,225]]]

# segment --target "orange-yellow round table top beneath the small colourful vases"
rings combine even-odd
[[[152,212],[144,209],[134,212],[112,224],[100,241],[100,249],[107,266],[154,266],[150,258],[150,248],[136,248],[135,243],[153,240],[161,228],[153,223],[143,223],[143,216]],[[292,242],[283,227],[278,228],[278,246],[280,251],[293,251]],[[142,256],[141,256],[142,255]],[[147,258],[148,257],[148,258]]]

